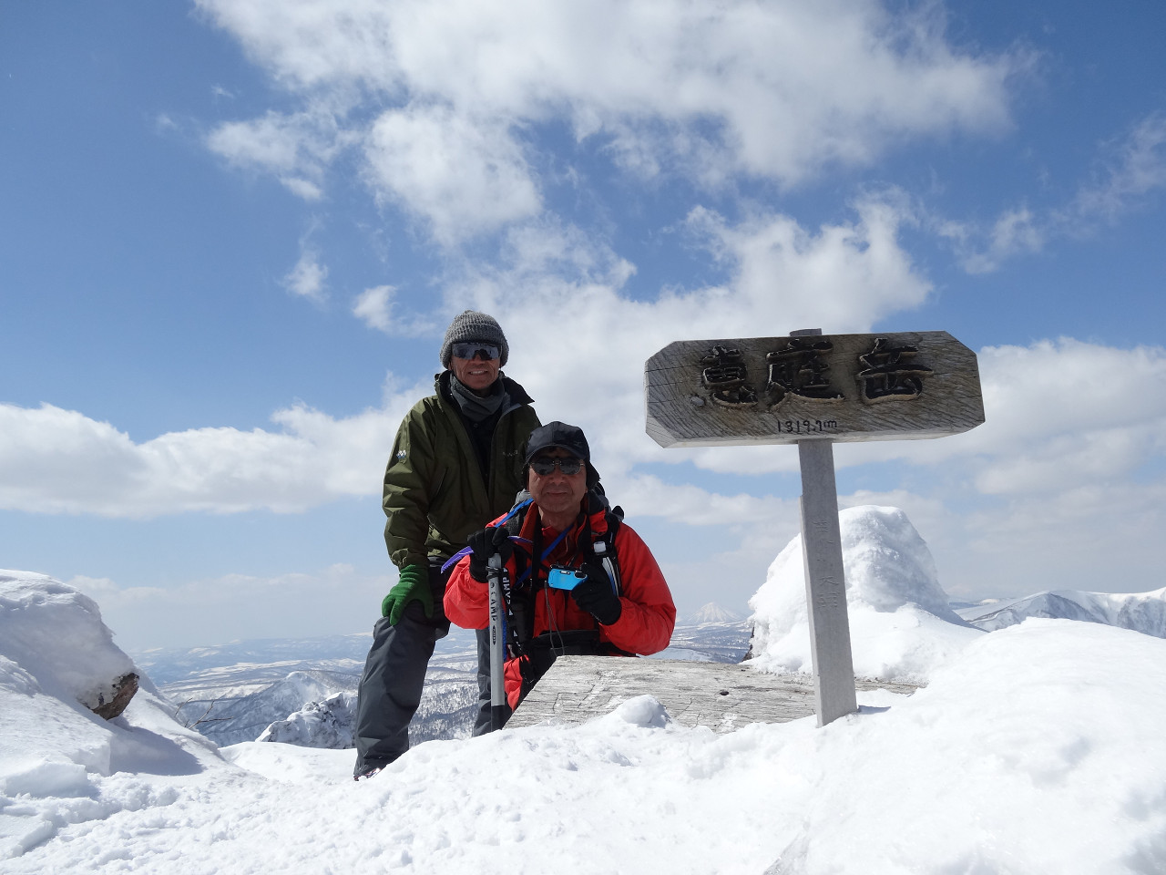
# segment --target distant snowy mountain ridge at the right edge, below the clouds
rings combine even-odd
[[[1028,617],[1046,617],[1104,623],[1166,638],[1166,588],[1150,593],[1054,589],[1024,598],[984,602],[956,612],[989,632],[1024,622]]]

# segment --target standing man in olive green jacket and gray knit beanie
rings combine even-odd
[[[498,322],[465,310],[441,346],[447,370],[396,430],[385,469],[385,544],[400,569],[381,603],[360,678],[357,779],[409,749],[434,643],[449,632],[442,565],[466,538],[505,513],[522,489],[522,448],[539,418],[531,398],[501,372],[510,346]],[[490,704],[490,652],[478,635],[479,704]],[[479,720],[489,728],[485,721]]]

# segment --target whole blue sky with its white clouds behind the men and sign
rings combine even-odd
[[[838,447],[954,597],[1164,584],[1156,2],[0,7],[0,566],[124,646],[367,628],[379,483],[478,307],[682,612],[792,447],[662,450],[669,341],[950,331],[988,422]]]

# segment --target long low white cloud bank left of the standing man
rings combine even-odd
[[[333,419],[278,411],[280,432],[197,428],[134,443],[108,422],[51,405],[0,404],[0,508],[146,518],[191,511],[298,512],[377,495],[412,386],[379,410]]]

